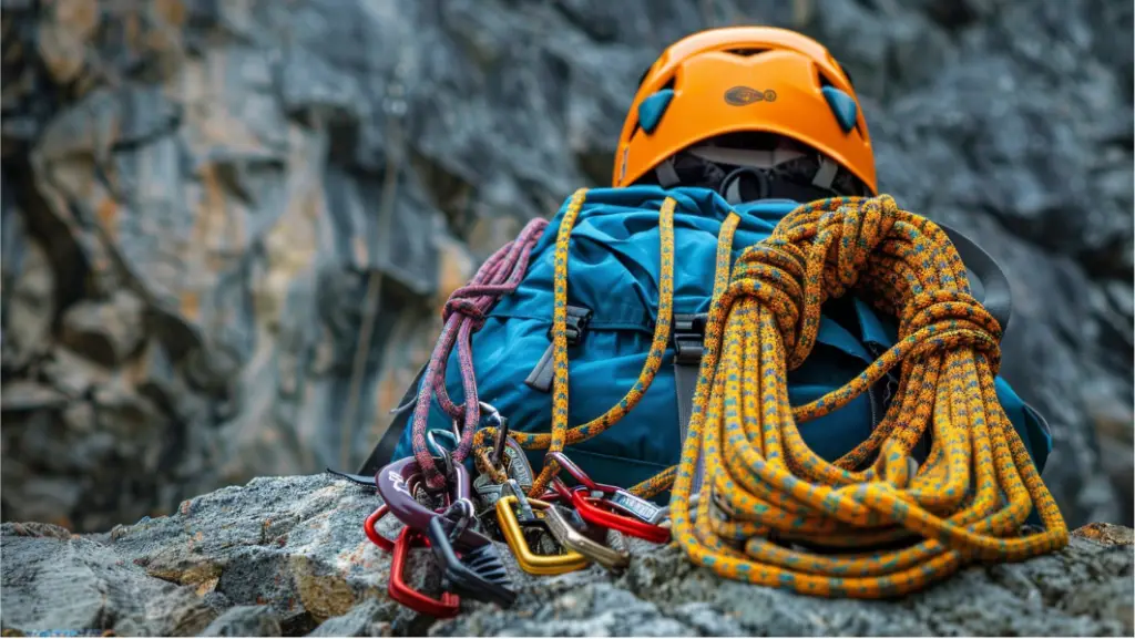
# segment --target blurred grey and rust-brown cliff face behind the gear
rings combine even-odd
[[[1002,373],[1070,526],[1132,522],[1126,0],[0,0],[2,519],[77,531],[354,469],[448,292],[604,184],[662,49],[850,70],[881,187],[1016,294]]]

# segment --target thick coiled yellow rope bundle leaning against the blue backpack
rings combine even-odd
[[[823,200],[748,247],[731,278],[729,269],[718,260],[717,283],[728,286],[715,287],[711,304],[671,501],[673,535],[691,561],[729,579],[876,598],[968,562],[1067,545],[1060,512],[997,398],[1001,329],[970,296],[941,228],[888,195]],[[787,373],[815,344],[821,304],[851,287],[900,319],[899,343],[843,388],[792,409]],[[797,421],[846,405],[899,364],[898,394],[871,438],[834,464],[807,447]],[[933,448],[911,474],[908,455],[927,428]],[[699,460],[701,497],[713,498],[698,499],[691,516]],[[1033,506],[1046,530],[1023,537]],[[871,548],[898,539],[918,543]]]

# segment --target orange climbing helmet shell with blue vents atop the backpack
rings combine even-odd
[[[867,123],[843,67],[815,40],[764,26],[703,31],[662,53],[623,123],[612,185],[633,184],[679,151],[740,133],[804,144],[876,193]]]

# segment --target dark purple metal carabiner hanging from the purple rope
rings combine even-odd
[[[472,502],[470,499],[472,493],[469,486],[469,473],[461,464],[453,464],[453,484],[449,486],[448,503],[446,506],[465,501],[470,503],[470,512],[472,512]],[[413,493],[410,491],[410,478],[418,472],[420,472],[418,461],[413,457],[405,457],[389,463],[379,470],[375,474],[375,486],[378,488],[378,494],[382,497],[382,502],[389,507],[390,514],[398,518],[402,523],[410,528],[419,530],[422,533],[428,533],[429,522],[435,518],[442,516],[442,513],[432,511],[419,504],[418,499],[414,499]],[[488,537],[473,527],[465,527],[454,540],[455,545],[463,548],[479,548],[491,543]]]

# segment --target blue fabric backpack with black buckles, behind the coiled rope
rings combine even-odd
[[[672,343],[663,365],[640,403],[598,436],[565,448],[565,454],[592,479],[630,487],[678,463],[689,419],[701,354],[701,320],[713,292],[717,236],[729,212],[741,222],[733,239],[733,260],[773,232],[796,202],[766,200],[730,207],[717,193],[657,186],[591,190],[571,234],[569,252],[568,323],[570,359],[569,424],[585,423],[617,404],[636,381],[654,334],[658,300],[658,211],[666,197],[674,209],[674,295]],[[553,274],[556,232],[568,203],[550,220],[530,254],[528,270],[514,293],[502,297],[472,337],[479,398],[507,418],[512,430],[548,432],[552,422]],[[967,268],[985,285],[991,304],[994,280],[1006,295],[997,303],[1008,311],[1007,283],[992,260],[964,237],[950,232]],[[978,266],[981,268],[978,268]],[[980,289],[980,286],[975,286]],[[978,299],[981,295],[977,294]],[[1002,326],[1006,318],[998,318]],[[852,296],[825,304],[817,345],[807,361],[788,376],[789,398],[801,405],[838,389],[894,344],[894,325]],[[424,369],[423,369],[424,370]],[[453,402],[464,401],[456,350],[449,355],[446,389]],[[413,454],[406,428],[419,380],[407,390],[403,410],[365,462],[362,474]],[[834,461],[867,439],[886,412],[896,378],[882,380],[850,404],[799,424],[805,442],[822,457]],[[1052,447],[1043,419],[997,379],[1001,404],[1043,470]],[[429,429],[449,430],[452,420],[437,402],[430,406]],[[928,442],[915,451],[919,463]],[[533,468],[544,451],[529,451]],[[656,497],[665,503],[667,494]]]

